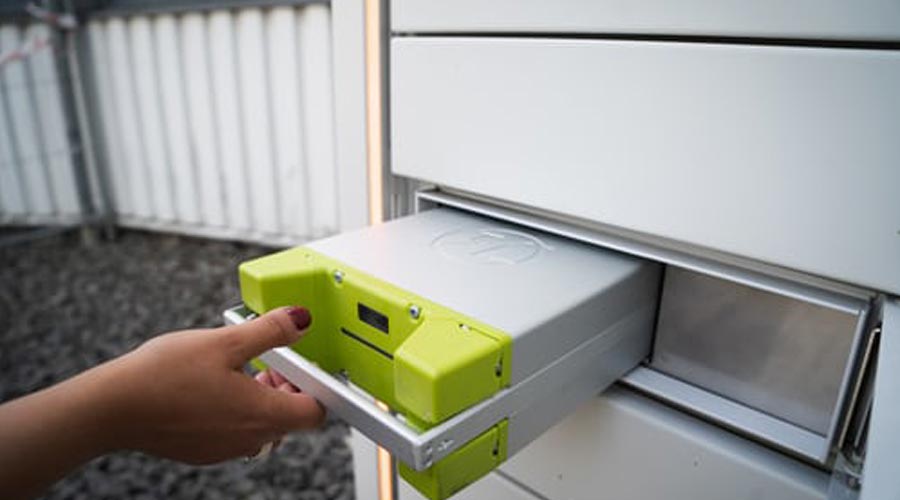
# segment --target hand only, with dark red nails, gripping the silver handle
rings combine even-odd
[[[325,411],[311,396],[274,372],[258,383],[241,370],[299,340],[310,321],[306,309],[285,307],[241,325],[162,335],[99,368],[109,447],[206,464],[320,425]]]

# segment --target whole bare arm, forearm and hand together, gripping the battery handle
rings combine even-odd
[[[33,497],[116,449],[208,464],[321,424],[325,412],[312,397],[241,371],[267,349],[299,340],[310,321],[309,311],[284,307],[243,325],[161,335],[0,405],[0,496]]]

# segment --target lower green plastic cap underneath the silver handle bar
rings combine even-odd
[[[502,420],[423,471],[400,463],[400,476],[430,500],[444,500],[506,460],[507,421]]]

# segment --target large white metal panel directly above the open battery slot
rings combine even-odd
[[[900,292],[900,51],[392,44],[395,173]]]

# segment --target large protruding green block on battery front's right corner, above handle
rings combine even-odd
[[[395,398],[422,423],[441,422],[500,389],[502,353],[475,329],[426,318],[394,353]]]

